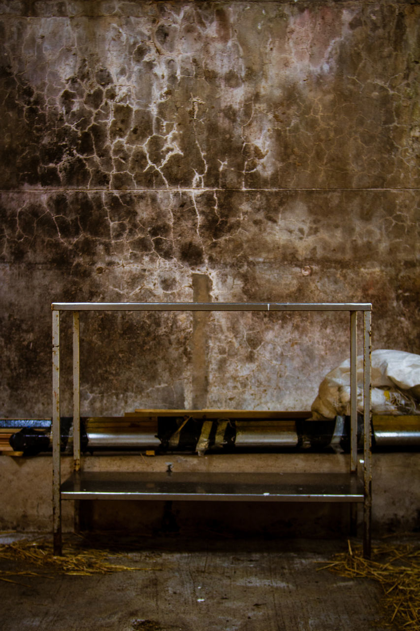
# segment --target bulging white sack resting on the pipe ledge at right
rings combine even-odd
[[[363,410],[363,355],[358,357],[358,411]],[[420,355],[372,352],[372,412],[420,414]],[[329,372],[312,404],[312,418],[350,415],[350,360]]]

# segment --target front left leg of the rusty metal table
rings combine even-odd
[[[61,555],[60,312],[52,312],[52,526],[54,554]]]

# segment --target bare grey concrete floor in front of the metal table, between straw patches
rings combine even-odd
[[[27,536],[27,535],[26,535]],[[92,537],[93,535],[90,535]],[[96,545],[101,543],[95,536]],[[370,631],[382,587],[317,571],[346,540],[112,539],[149,571],[0,581],[2,631]],[[121,560],[117,561],[121,563]],[[321,562],[321,563],[319,563]],[[0,568],[11,569],[0,559]],[[378,622],[379,621],[379,622]]]

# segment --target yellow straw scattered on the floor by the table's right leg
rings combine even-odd
[[[383,624],[399,630],[420,630],[420,548],[412,545],[381,544],[372,549],[371,559],[363,558],[360,546],[334,555],[320,570],[330,570],[349,579],[373,579],[384,592]]]

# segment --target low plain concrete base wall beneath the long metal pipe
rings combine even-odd
[[[324,471],[347,473],[347,456],[336,454],[252,454],[240,456],[171,456],[174,471]],[[165,471],[168,457],[95,456],[83,461],[85,471]],[[419,531],[420,455],[373,455],[373,534]],[[69,457],[62,459],[62,475],[71,472]],[[2,509],[0,529],[50,531],[52,528],[51,457],[0,456]],[[404,489],[404,493],[401,490]],[[163,528],[165,502],[81,502],[86,529],[117,529],[149,534]],[[181,533],[201,536],[214,529],[228,533],[272,533],[277,536],[346,536],[348,504],[293,504],[270,502],[173,502]],[[358,510],[359,523],[363,510]],[[62,502],[62,523],[73,530],[73,502]],[[362,530],[359,531],[361,533]]]

